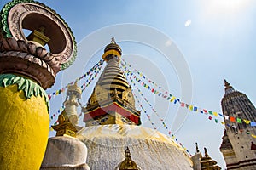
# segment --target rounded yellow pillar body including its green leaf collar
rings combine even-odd
[[[39,169],[49,133],[44,89],[24,77],[0,75],[0,169]]]

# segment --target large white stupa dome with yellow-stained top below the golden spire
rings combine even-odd
[[[156,130],[131,125],[84,127],[78,139],[88,148],[90,169],[113,170],[125,159],[125,148],[141,169],[192,169],[185,150]]]

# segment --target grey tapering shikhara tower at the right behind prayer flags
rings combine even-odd
[[[256,109],[246,94],[236,91],[224,81],[225,94],[221,101],[226,129],[220,151],[228,169],[256,169]]]

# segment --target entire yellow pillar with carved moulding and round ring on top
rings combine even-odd
[[[0,169],[39,169],[49,134],[44,89],[73,63],[76,42],[60,15],[32,0],[7,3],[0,30]]]

